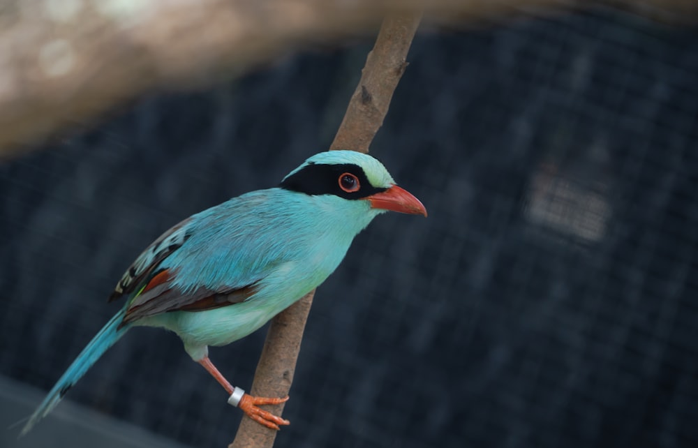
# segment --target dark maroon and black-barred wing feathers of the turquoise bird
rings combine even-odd
[[[204,311],[245,301],[257,291],[258,278],[243,285],[219,288],[199,286],[182,290],[174,285],[177,269],[163,268],[163,261],[191,237],[193,218],[187,218],[163,233],[131,264],[109,300],[131,297],[121,326],[149,315],[168,311]]]

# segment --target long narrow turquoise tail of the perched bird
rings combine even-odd
[[[107,324],[99,331],[99,333],[92,338],[92,341],[87,344],[87,347],[82,350],[80,355],[75,358],[73,364],[70,364],[68,370],[61,376],[61,378],[56,382],[53,389],[48,393],[46,398],[41,402],[34,414],[31,415],[29,421],[22,432],[20,437],[31,430],[38,423],[40,419],[46,417],[49,412],[56,407],[59,401],[66,395],[68,389],[73,387],[73,384],[82,378],[82,375],[89,370],[89,368],[97,362],[104,352],[107,351],[114,343],[119,341],[121,336],[124,336],[128,325],[119,328],[119,324],[124,319],[124,311],[121,311],[114,315],[114,317],[107,322]]]

